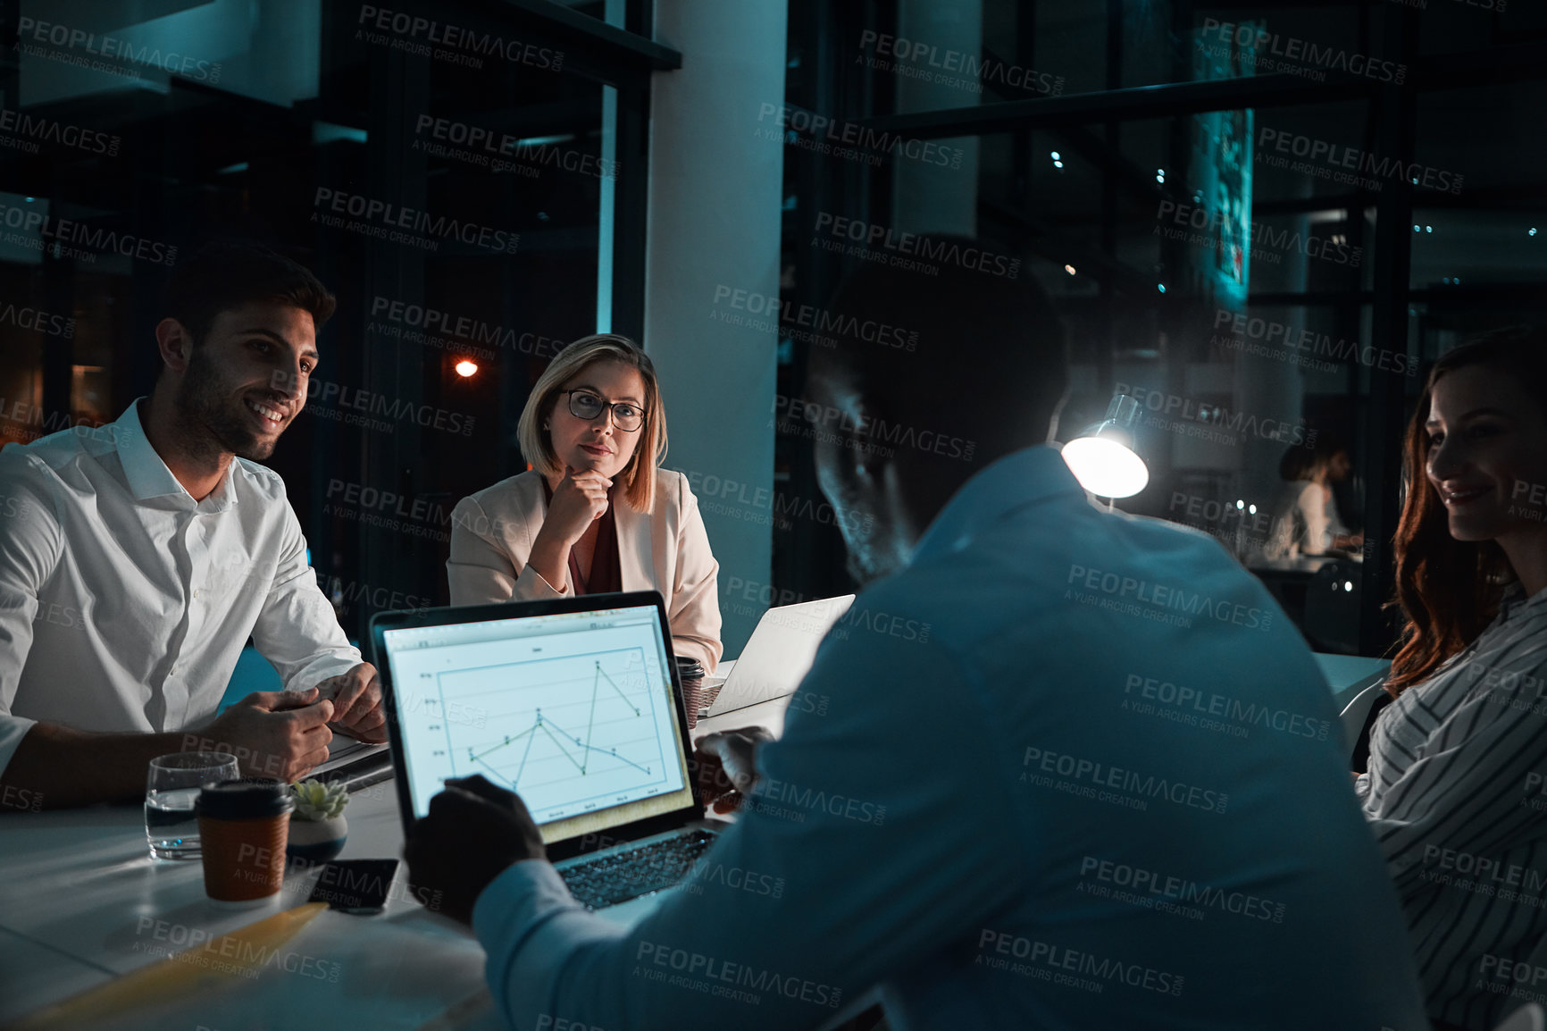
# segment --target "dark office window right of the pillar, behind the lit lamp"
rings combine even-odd
[[[869,260],[812,243],[835,215],[1024,262],[1069,327],[1061,440],[1139,402],[1149,483],[1115,506],[1217,537],[1318,650],[1380,653],[1426,362],[1542,314],[1544,37],[1524,5],[792,3],[791,105],[959,161],[791,147],[786,293]],[[811,489],[809,444],[778,472]],[[852,587],[832,528],[775,534],[792,593]]]

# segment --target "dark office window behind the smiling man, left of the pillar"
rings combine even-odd
[[[648,76],[670,54],[637,34],[648,14],[23,14],[0,71],[0,443],[118,418],[153,389],[173,268],[213,238],[268,245],[339,297],[269,460],[323,588],[351,635],[441,604],[452,506],[526,468],[515,420],[546,361],[639,331]]]

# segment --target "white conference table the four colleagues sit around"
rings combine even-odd
[[[1388,666],[1354,656],[1318,661],[1335,697],[1352,697]],[[695,737],[750,724],[778,735],[787,706],[786,697],[710,717]],[[340,858],[401,855],[394,791],[387,780],[351,796]],[[405,873],[399,864],[384,913],[317,915],[254,980],[210,977],[195,991],[94,1019],[91,1026],[500,1028],[484,988],[483,949],[408,898]],[[6,816],[0,819],[0,1026],[155,963],[155,951],[184,947],[189,935],[209,940],[300,906],[314,879],[316,872],[288,878],[278,899],[263,909],[229,910],[204,896],[196,861],[149,858],[138,807]]]

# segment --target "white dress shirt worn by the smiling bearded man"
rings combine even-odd
[[[360,661],[272,469],[203,502],[116,423],[0,450],[0,769],[36,721],[176,731],[213,715],[251,635],[303,690]]]

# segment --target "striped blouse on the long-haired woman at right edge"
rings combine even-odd
[[[1487,1031],[1547,1003],[1547,969],[1530,966],[1547,937],[1547,590],[1515,585],[1471,646],[1380,714],[1355,790],[1429,1016]]]

